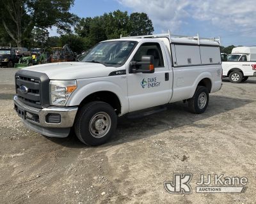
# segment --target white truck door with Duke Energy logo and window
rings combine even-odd
[[[163,105],[170,101],[172,67],[168,66],[165,48],[159,43],[143,43],[132,61],[141,61],[141,56],[154,56],[154,73],[129,73],[127,75],[129,112]]]

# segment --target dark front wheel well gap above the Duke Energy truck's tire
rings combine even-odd
[[[99,91],[99,92],[90,94],[89,96],[86,96],[86,98],[84,98],[83,101],[80,103],[79,108],[84,104],[92,101],[103,101],[105,103],[108,103],[115,109],[115,112],[117,115],[121,113],[120,100],[118,99],[116,94],[114,94],[111,91]]]

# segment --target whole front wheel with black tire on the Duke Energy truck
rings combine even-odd
[[[93,101],[84,105],[77,113],[74,130],[81,142],[97,146],[111,138],[115,133],[116,123],[116,113],[111,105],[102,101]],[[97,124],[99,127],[96,127]]]

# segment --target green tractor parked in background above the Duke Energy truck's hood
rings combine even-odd
[[[45,61],[45,54],[32,54],[29,57],[21,57],[19,59],[19,63],[15,64],[14,68],[26,68],[27,66],[33,66],[36,64],[41,64],[42,62]]]

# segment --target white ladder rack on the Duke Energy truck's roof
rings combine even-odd
[[[120,38],[163,38],[166,37],[172,41],[172,38],[183,38],[183,39],[189,39],[189,40],[197,40],[198,45],[200,45],[200,40],[209,40],[209,41],[216,41],[220,44],[220,36],[218,38],[201,38],[199,37],[199,34],[196,34],[196,36],[182,36],[182,35],[176,35],[176,34],[171,34],[170,30],[168,30],[168,33],[163,33],[163,34],[149,34],[145,36],[127,36],[123,37],[122,34],[120,35]]]

